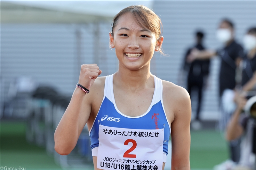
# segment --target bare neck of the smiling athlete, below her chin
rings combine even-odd
[[[154,80],[154,77],[150,73],[150,64],[139,70],[128,70],[119,63],[119,69],[114,74],[113,83],[127,90],[136,91],[151,87],[152,84],[150,82],[154,82],[152,80]]]

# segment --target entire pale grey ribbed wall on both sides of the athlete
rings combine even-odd
[[[205,32],[205,46],[216,49],[221,44],[215,31],[221,18],[230,18],[236,27],[236,40],[250,26],[255,26],[255,1],[154,1],[153,9],[163,22],[163,49],[169,57],[156,54],[151,71],[157,77],[177,84],[178,72],[186,48],[193,45],[197,28]],[[80,65],[97,63],[102,76],[116,72],[118,62],[109,48],[111,23],[68,24],[1,24],[1,73],[5,87],[20,76],[50,84],[65,94],[72,94],[78,81]],[[100,30],[95,34],[95,30]],[[76,31],[81,33],[77,37]],[[97,38],[98,36],[98,38]],[[77,43],[77,41],[81,43]],[[80,44],[80,53],[77,48]],[[95,47],[96,48],[93,48]],[[94,56],[98,56],[95,58]],[[80,56],[80,59],[79,59]],[[210,86],[206,90],[203,119],[218,117],[218,71],[220,59],[212,60]],[[5,93],[7,91],[5,90]],[[195,108],[195,107],[194,107]]]

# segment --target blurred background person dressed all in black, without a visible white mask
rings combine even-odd
[[[193,48],[197,50],[204,50],[203,38],[204,33],[201,31],[197,31],[195,34],[196,44]],[[187,75],[187,90],[191,97],[191,92],[195,90],[197,92],[197,108],[196,108],[196,118],[195,121],[191,122],[191,127],[195,130],[201,129],[202,125],[200,123],[200,111],[202,105],[202,92],[204,89],[204,85],[206,84],[206,80],[209,75],[209,65],[210,59],[196,59],[193,62],[188,62],[188,55],[191,53],[193,48],[188,48],[186,51],[186,55],[184,57],[183,70],[188,72]]]

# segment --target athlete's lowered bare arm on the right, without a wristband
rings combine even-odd
[[[188,92],[182,87],[173,89],[175,98],[174,120],[171,124],[172,169],[190,169],[191,103]]]

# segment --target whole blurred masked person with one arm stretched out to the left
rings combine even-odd
[[[233,105],[235,92],[233,90],[236,87],[236,69],[242,61],[244,52],[242,46],[235,40],[234,24],[229,19],[222,19],[216,32],[216,38],[223,44],[222,48],[203,51],[194,48],[188,56],[188,61],[208,59],[216,55],[221,57],[219,76],[221,118],[219,126],[221,130],[225,130],[228,120],[235,111]],[[240,159],[240,139],[229,142],[229,147],[230,158],[237,163]]]

